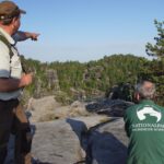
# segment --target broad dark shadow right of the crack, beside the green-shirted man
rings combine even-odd
[[[126,164],[127,147],[113,133],[93,131],[87,145],[87,164]]]

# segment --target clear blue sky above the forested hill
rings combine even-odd
[[[164,21],[164,0],[13,0],[27,14],[22,31],[38,42],[19,43],[20,52],[40,61],[90,61],[113,54],[145,55]]]

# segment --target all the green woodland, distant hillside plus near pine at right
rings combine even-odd
[[[151,80],[156,85],[156,103],[164,105],[164,22],[154,20],[154,25],[155,44],[145,45],[148,56],[153,57],[151,60],[117,54],[83,63],[40,62],[22,56],[25,70],[34,73],[34,83],[25,89],[24,99],[55,95],[63,104],[95,97],[133,101],[134,85],[141,80]],[[115,94],[112,96],[112,93]]]

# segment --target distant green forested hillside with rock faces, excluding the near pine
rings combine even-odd
[[[118,83],[134,84],[147,62],[147,59],[132,55],[105,56],[101,60],[86,63],[40,63],[37,60],[24,60],[35,74],[33,84],[26,87],[28,95],[39,97],[54,94],[62,103],[102,96],[106,90]]]

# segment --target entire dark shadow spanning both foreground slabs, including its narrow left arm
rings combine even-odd
[[[70,124],[85,151],[85,164],[126,164],[127,147],[112,132],[101,131],[99,127],[104,124],[87,130],[83,121],[67,119],[67,122]]]

